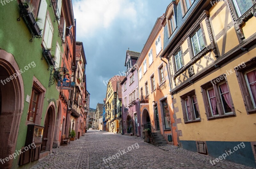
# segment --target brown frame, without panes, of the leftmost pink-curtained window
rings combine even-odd
[[[200,110],[197,110],[199,117],[196,118],[196,112],[195,112],[195,109],[194,109],[193,97],[196,97],[196,100],[197,100],[197,96],[196,96],[196,91],[195,90],[192,90],[192,91],[190,91],[190,92],[180,96],[181,106],[182,106],[182,113],[183,113],[183,119],[184,119],[184,123],[185,124],[186,123],[201,122]],[[187,111],[186,100],[188,100],[188,102],[189,102],[190,112]],[[198,100],[197,100],[197,104],[198,104]],[[188,113],[190,113],[190,116],[192,117],[191,120],[188,119]]]

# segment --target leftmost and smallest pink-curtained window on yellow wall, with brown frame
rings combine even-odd
[[[195,90],[180,96],[183,109],[183,117],[186,122],[200,121],[199,106],[195,95]]]

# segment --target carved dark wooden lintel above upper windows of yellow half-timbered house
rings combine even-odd
[[[188,38],[188,36],[197,29],[197,26],[200,24],[200,22],[202,22],[205,16],[206,16],[206,11],[203,11],[203,13],[199,16],[196,22],[191,26],[188,32],[182,37],[180,42],[172,49],[172,52],[169,53],[167,58],[170,58],[173,55],[173,53],[175,53],[177,49],[181,46],[181,44],[183,44],[183,42]]]

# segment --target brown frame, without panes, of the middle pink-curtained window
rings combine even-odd
[[[219,86],[224,83],[227,83],[229,97],[230,97],[230,103],[232,105],[232,108],[231,108],[232,112],[229,112],[229,113],[224,113],[225,110],[224,110],[223,102],[222,102],[221,95],[220,95],[220,87]],[[214,89],[215,96],[216,96],[216,110],[218,110],[218,113],[219,113],[218,115],[213,115],[212,108],[211,108],[212,106],[211,106],[211,103],[209,100],[208,91],[211,90],[212,88]],[[229,116],[236,116],[234,103],[232,100],[228,81],[227,81],[227,78],[225,77],[225,74],[221,74],[217,78],[203,84],[201,86],[201,91],[202,91],[202,96],[203,96],[203,101],[204,101],[204,108],[205,108],[205,112],[206,112],[206,116],[207,116],[208,120],[229,117]]]

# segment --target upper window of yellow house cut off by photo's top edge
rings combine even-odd
[[[236,14],[238,17],[241,17],[253,5],[252,0],[232,0],[232,1],[234,3]]]

